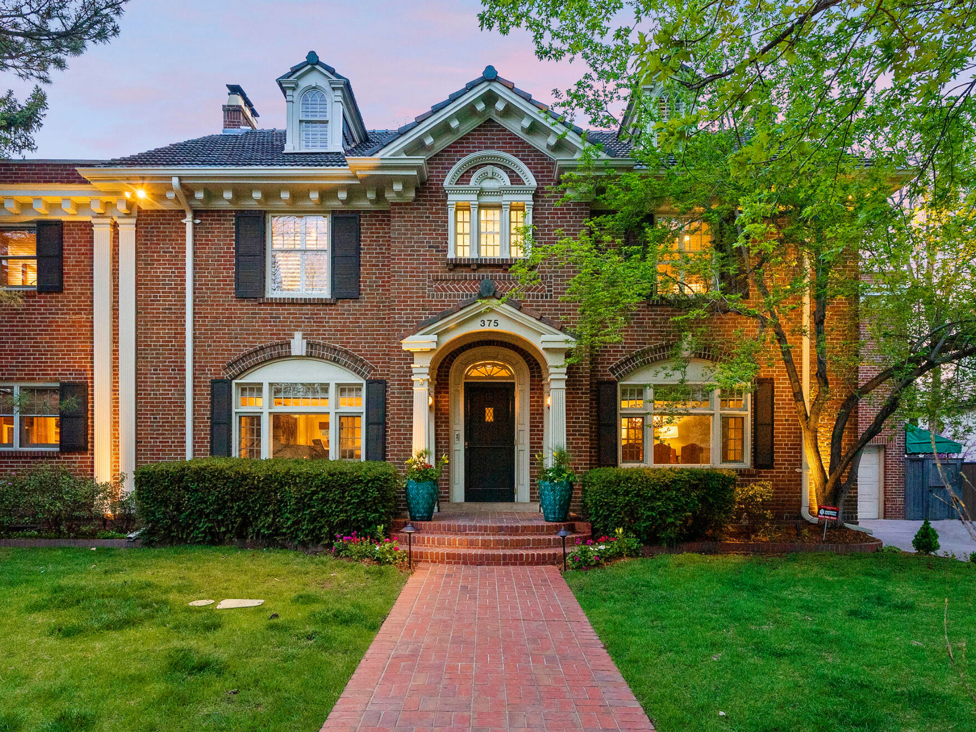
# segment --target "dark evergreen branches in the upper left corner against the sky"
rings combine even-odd
[[[34,134],[48,108],[40,84],[51,70],[67,68],[88,44],[107,43],[119,33],[128,0],[0,0],[0,69],[39,82],[23,103],[14,92],[0,97],[0,155],[37,149]]]

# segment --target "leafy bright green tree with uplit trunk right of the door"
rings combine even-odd
[[[749,385],[775,360],[816,500],[841,511],[887,418],[972,403],[974,0],[483,4],[483,27],[523,26],[541,58],[587,62],[563,107],[620,125],[642,169],[594,161],[567,180],[568,197],[612,213],[534,246],[521,269],[529,282],[573,267],[583,350],[620,341],[656,299],[682,352],[726,352],[718,386]],[[682,245],[701,234],[704,251]],[[734,338],[715,335],[716,317]],[[859,381],[862,353],[874,376]],[[947,376],[964,390],[941,388]],[[859,429],[869,402],[876,419]]]

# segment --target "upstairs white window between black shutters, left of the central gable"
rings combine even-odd
[[[267,230],[268,295],[329,297],[329,217],[271,216]]]

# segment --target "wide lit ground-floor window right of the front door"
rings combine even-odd
[[[749,394],[696,384],[621,384],[620,462],[745,467]]]

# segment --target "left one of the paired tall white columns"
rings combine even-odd
[[[93,219],[92,412],[95,479],[112,479],[112,221]]]

